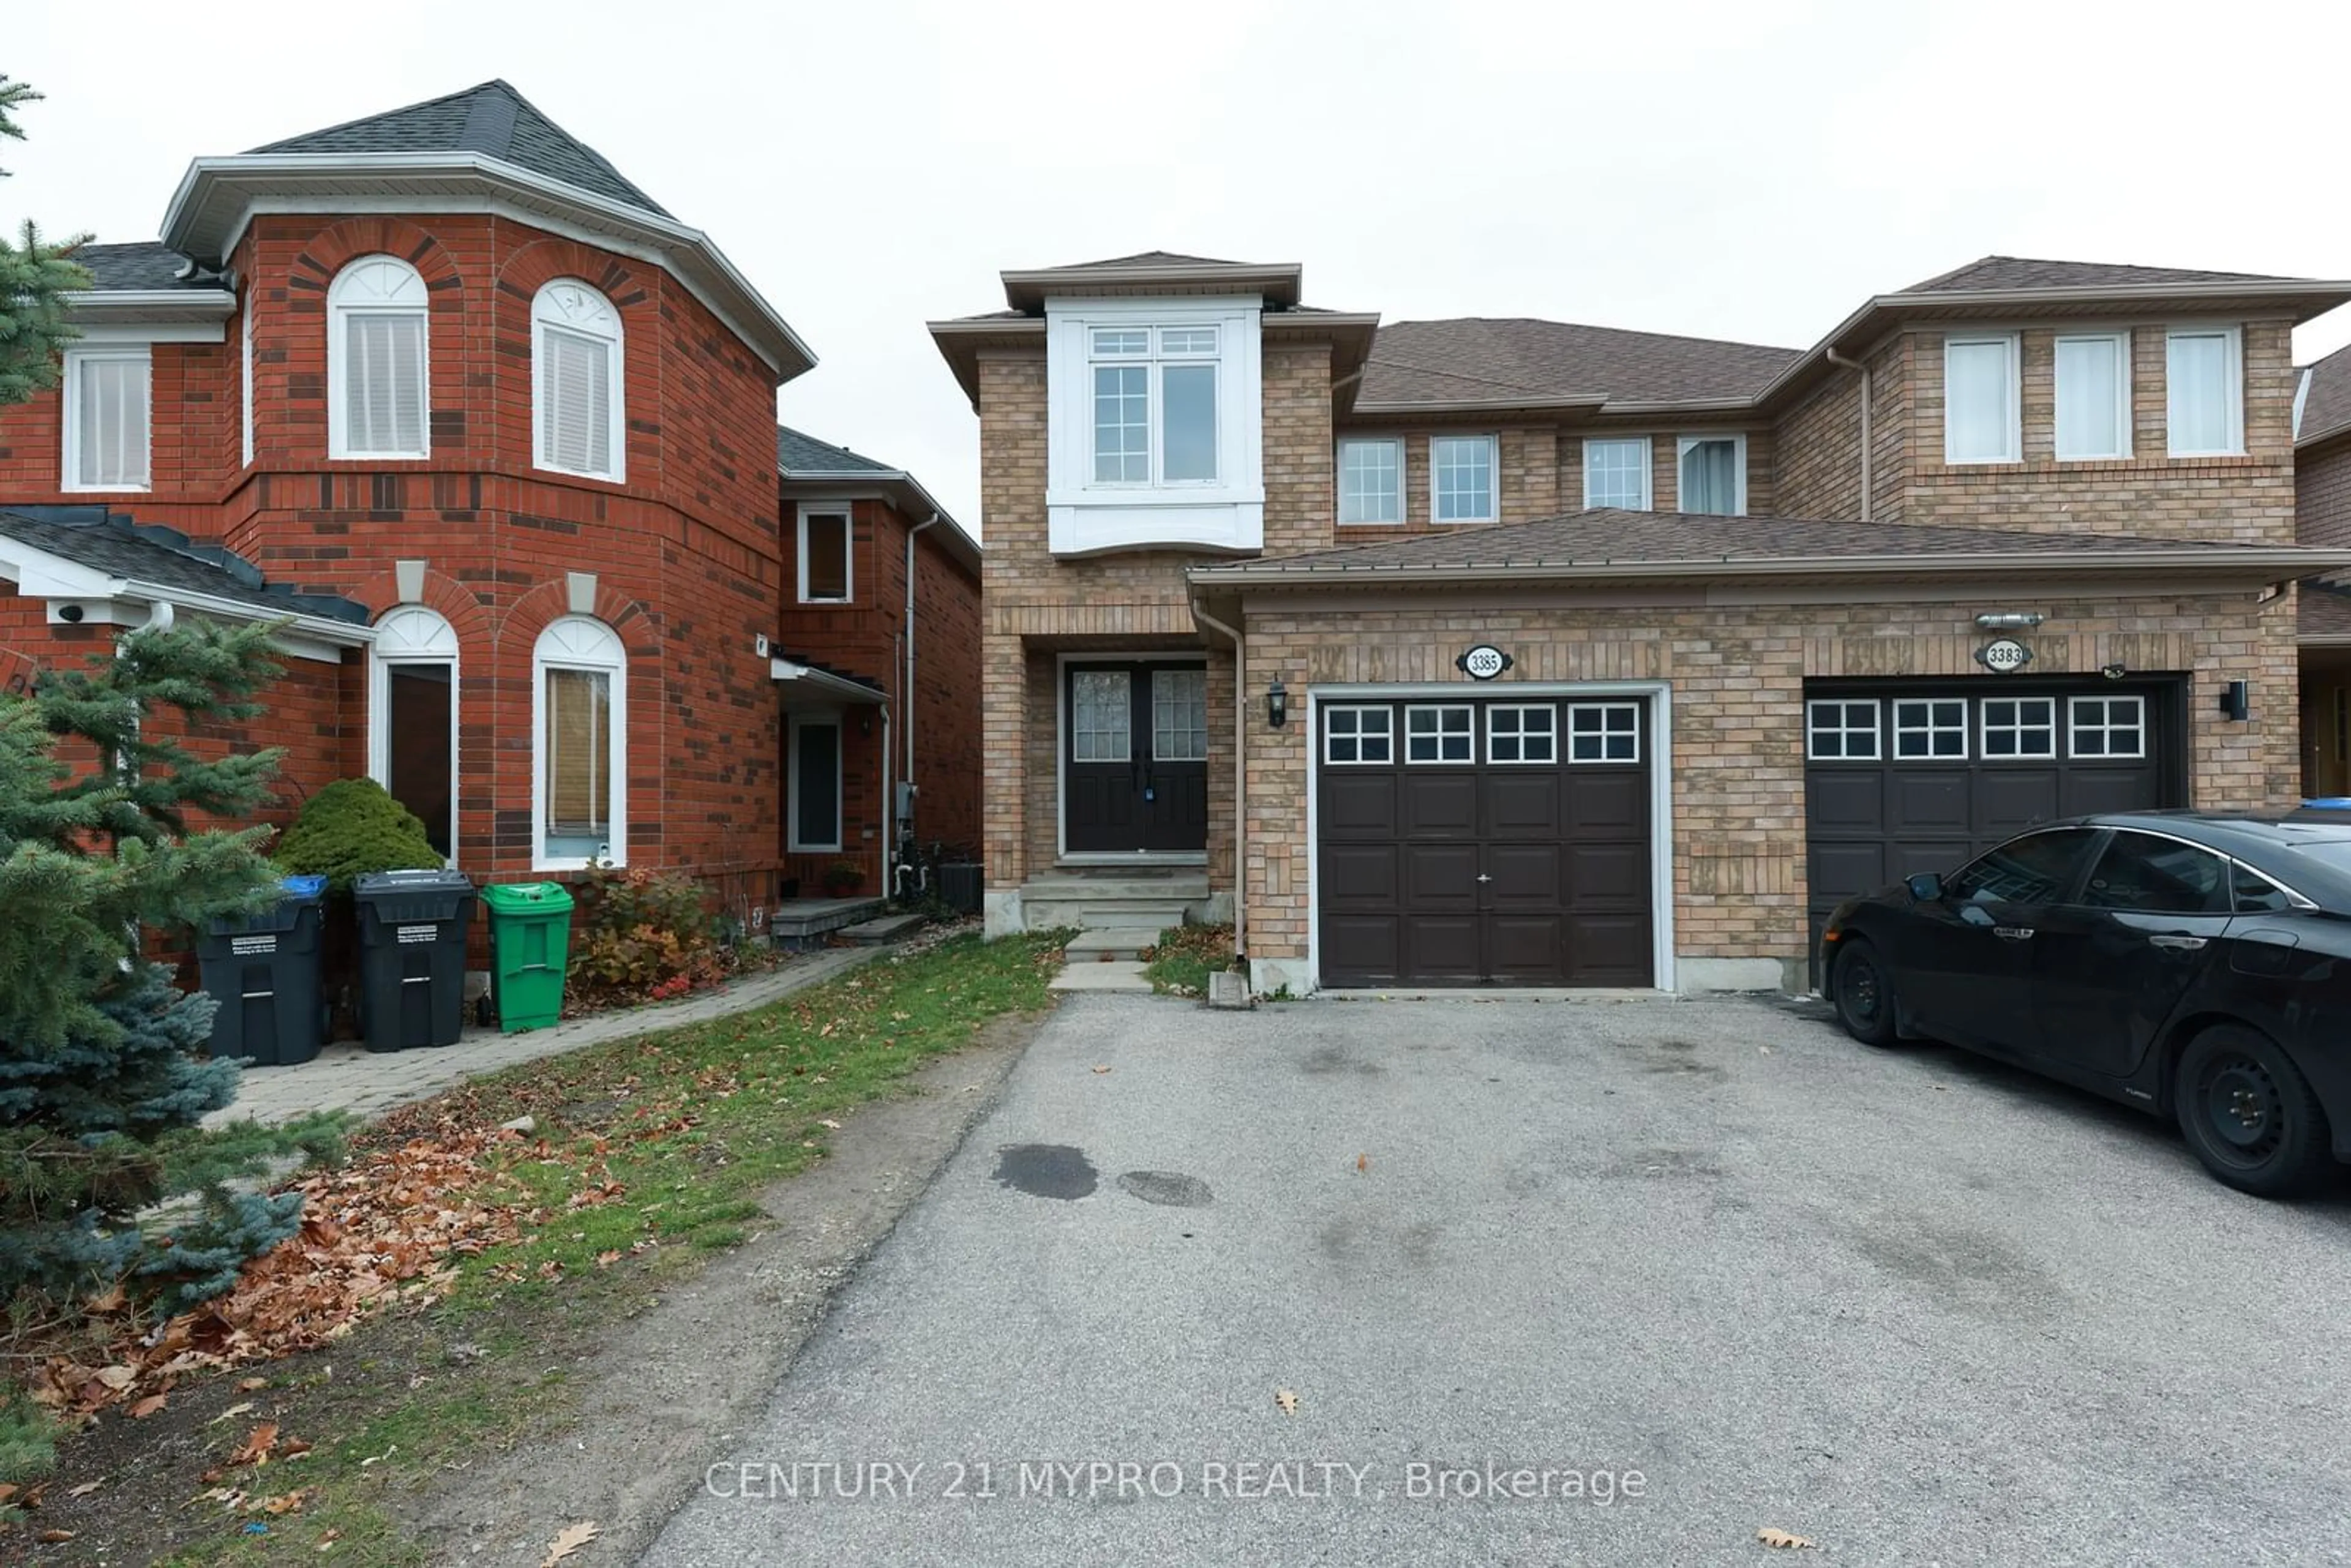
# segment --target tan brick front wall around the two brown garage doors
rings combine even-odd
[[[1674,945],[1683,957],[1803,959],[1803,682],[1841,675],[1984,675],[1972,654],[1980,599],[1777,609],[1688,604],[1570,607],[1345,597],[1312,609],[1267,602],[1248,618],[1251,670],[1305,684],[1439,682],[1453,651],[1493,639],[1509,682],[1669,682],[1674,703]],[[2193,672],[2189,790],[2205,809],[2283,806],[2299,795],[2295,609],[2250,595],[2048,602],[2036,672]],[[2224,679],[2252,679],[2255,717],[2212,712]],[[1248,947],[1307,952],[1307,724],[1248,731]]]

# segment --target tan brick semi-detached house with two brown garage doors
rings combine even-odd
[[[2283,806],[2295,324],[1989,256],[1813,348],[1380,324],[1298,266],[1002,275],[990,929],[1232,917],[1255,990],[1801,987],[2050,816]]]

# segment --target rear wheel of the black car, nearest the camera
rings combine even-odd
[[[2179,1131],[2215,1178],[2257,1197],[2311,1192],[2335,1173],[2327,1114],[2273,1039],[2236,1023],[2179,1053]]]

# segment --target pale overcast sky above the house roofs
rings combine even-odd
[[[971,529],[922,324],[1006,266],[1300,261],[1387,320],[1787,346],[1989,252],[2351,277],[2339,0],[16,9],[0,71],[49,101],[0,143],[9,228],[150,240],[200,153],[503,75],[816,348],[788,423]]]

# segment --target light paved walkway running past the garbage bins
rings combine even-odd
[[[348,1110],[355,1117],[381,1117],[395,1105],[426,1100],[454,1084],[517,1063],[536,1063],[545,1056],[562,1056],[581,1046],[607,1039],[672,1030],[682,1023],[708,1023],[729,1013],[748,1013],[766,1006],[776,997],[788,997],[806,985],[820,985],[900,947],[825,947],[785,959],[781,969],[764,976],[736,980],[722,990],[635,1006],[595,1018],[574,1018],[552,1030],[529,1034],[501,1034],[498,1030],[468,1027],[458,1044],[440,1051],[367,1051],[357,1041],[341,1041],[320,1051],[296,1067],[247,1067],[237,1088],[237,1100],[226,1110],[205,1117],[207,1126],[223,1121],[280,1124],[320,1110]]]

